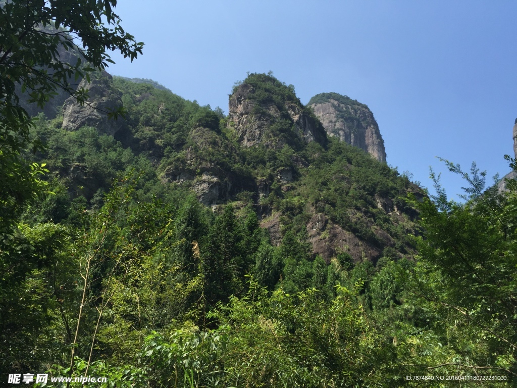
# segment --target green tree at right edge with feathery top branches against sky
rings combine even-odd
[[[517,314],[514,268],[515,191],[484,190],[484,175],[473,163],[471,174],[446,162],[470,184],[465,204],[448,201],[435,179],[434,203],[416,202],[424,235],[418,237],[419,260],[406,280],[410,303],[427,311],[444,352],[456,354],[450,365],[461,374],[486,368],[508,378],[515,363]],[[445,357],[445,356],[444,356]],[[422,368],[444,360],[420,361]]]

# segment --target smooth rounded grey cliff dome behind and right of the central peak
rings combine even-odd
[[[372,111],[364,104],[337,93],[322,93],[308,104],[329,136],[362,148],[386,162],[384,141]]]

